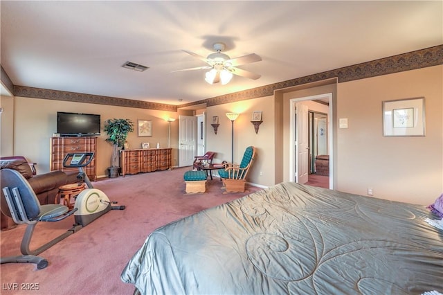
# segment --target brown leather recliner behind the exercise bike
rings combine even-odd
[[[33,175],[33,170],[24,157],[0,158],[0,169],[4,168],[19,171],[20,174],[26,178],[30,187],[33,188],[35,195],[37,195],[37,198],[42,205],[54,204],[60,186],[65,184],[75,184],[80,181],[80,179],[77,178],[78,172],[76,171],[63,172],[57,170],[41,175]],[[3,189],[3,184],[1,184],[1,189]],[[3,204],[1,205],[3,206]],[[1,230],[8,230],[15,227],[15,222],[12,221],[12,218],[3,215],[3,213],[1,213],[0,217]]]

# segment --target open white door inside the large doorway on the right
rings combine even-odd
[[[309,128],[308,107],[298,102],[296,104],[296,159],[297,183],[307,183],[309,175]]]

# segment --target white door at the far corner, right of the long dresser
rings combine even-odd
[[[179,167],[192,166],[197,147],[197,117],[179,116]]]

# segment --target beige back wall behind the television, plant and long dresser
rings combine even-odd
[[[168,122],[165,121],[165,118],[178,118],[176,112],[170,111],[16,97],[15,116],[13,120],[15,129],[13,154],[24,155],[30,161],[36,162],[37,170],[40,173],[48,172],[50,167],[50,138],[53,136],[53,133],[57,131],[57,111],[100,114],[102,129],[105,120],[109,118],[129,118],[134,122],[134,132],[130,133],[127,137],[129,146],[132,148],[141,148],[142,142],[149,142],[152,147],[159,142],[161,147],[167,147]],[[152,137],[137,136],[137,119],[152,120]],[[172,164],[174,166],[178,163],[178,122],[179,121],[176,120],[171,123]],[[106,170],[111,165],[112,148],[111,144],[105,141],[106,138],[107,136],[104,132],[98,137],[96,160],[97,174],[99,177],[107,175]]]

